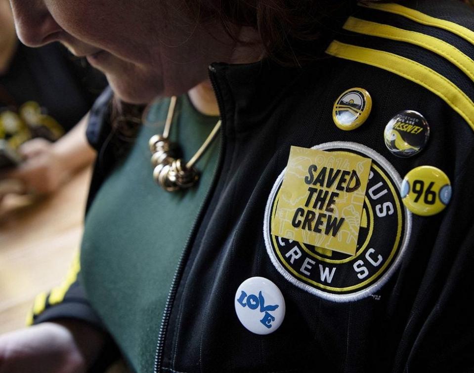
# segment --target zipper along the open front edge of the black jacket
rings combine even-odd
[[[224,113],[223,110],[223,100],[221,96],[220,89],[215,82],[215,67],[210,65],[209,66],[209,78],[211,79],[211,83],[214,88],[214,92],[217,98],[217,104],[219,107],[219,112]],[[172,285],[170,288],[170,292],[168,293],[168,298],[166,300],[166,305],[165,305],[165,312],[163,313],[163,318],[161,321],[161,326],[160,326],[160,332],[158,334],[158,342],[156,345],[156,353],[155,353],[155,366],[153,368],[154,373],[158,373],[161,370],[161,365],[163,363],[163,352],[164,352],[164,342],[165,342],[165,337],[166,333],[168,331],[168,323],[170,321],[170,316],[171,316],[171,309],[172,305],[174,303],[174,297],[176,296],[176,291],[178,288],[178,283],[179,280],[181,279],[186,258],[188,256],[188,253],[191,249],[190,241],[191,238],[194,236],[196,228],[198,227],[198,222],[203,218],[204,216],[204,210],[205,207],[209,204],[209,201],[211,199],[211,195],[213,194],[213,191],[215,189],[215,185],[217,183],[217,175],[220,172],[220,169],[222,168],[222,154],[224,153],[224,128],[225,128],[225,119],[221,117],[222,124],[220,128],[220,147],[219,147],[219,153],[218,153],[218,158],[217,158],[217,166],[215,167],[214,171],[214,176],[213,176],[213,181],[211,183],[211,187],[208,189],[206,196],[204,197],[204,202],[202,203],[201,207],[199,208],[199,212],[196,215],[196,218],[194,219],[193,225],[191,226],[191,231],[189,232],[189,235],[186,239],[186,244],[184,245],[184,249],[182,250],[181,256],[179,257],[179,262],[178,266],[176,267],[176,270],[174,271],[173,275],[173,280],[172,280]]]

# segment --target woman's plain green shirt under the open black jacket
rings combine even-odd
[[[209,190],[219,136],[195,165],[194,187],[166,192],[153,180],[149,138],[163,133],[169,99],[151,113],[129,156],[111,173],[91,205],[81,251],[87,298],[112,334],[130,367],[152,370],[163,312],[179,257]],[[217,117],[203,115],[187,96],[176,103],[170,138],[188,161],[205,141]]]

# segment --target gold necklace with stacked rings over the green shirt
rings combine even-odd
[[[194,167],[194,164],[199,161],[201,156],[209,148],[221,124],[221,120],[219,119],[199,150],[189,162],[185,164],[183,159],[179,157],[181,155],[181,146],[177,142],[170,141],[168,138],[175,106],[176,96],[172,96],[163,134],[153,135],[148,141],[152,154],[151,164],[153,166],[153,178],[158,185],[168,192],[191,188],[196,184],[199,179],[199,170]],[[145,123],[148,111],[149,107],[143,112],[143,123]]]

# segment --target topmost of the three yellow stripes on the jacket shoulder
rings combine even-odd
[[[474,32],[464,26],[458,25],[457,23],[431,17],[428,14],[422,13],[415,9],[407,8],[406,6],[399,4],[376,4],[371,2],[367,4],[359,3],[359,5],[371,9],[382,10],[388,13],[398,14],[422,25],[437,27],[439,29],[449,31],[474,44]]]

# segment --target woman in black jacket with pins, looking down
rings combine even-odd
[[[86,55],[125,101],[190,92],[175,110],[168,99],[149,107],[125,160],[110,145],[120,136],[94,128],[80,281],[37,303],[35,321],[50,323],[4,337],[3,355],[14,352],[1,367],[48,353],[58,371],[84,370],[107,331],[138,372],[472,368],[471,9],[12,5],[24,42]],[[204,142],[216,105],[220,150],[206,147],[193,184],[176,162]],[[151,148],[174,192],[152,184],[144,149],[167,112],[183,154],[166,135]],[[44,346],[48,336],[59,346]]]

